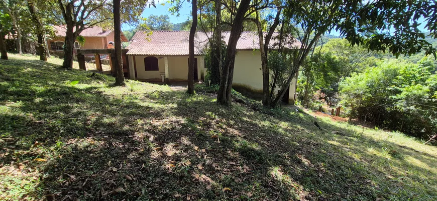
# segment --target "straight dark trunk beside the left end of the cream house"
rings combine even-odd
[[[121,39],[121,22],[120,22],[120,0],[114,0],[114,50],[116,54],[115,60],[115,76],[117,86],[124,86],[125,75],[123,73],[123,63],[122,63],[122,39]]]

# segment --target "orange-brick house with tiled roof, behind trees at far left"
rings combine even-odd
[[[49,49],[53,51],[62,51],[65,41],[65,26],[53,26],[56,37],[48,39]],[[75,49],[106,49],[114,48],[114,30],[105,30],[98,26],[88,27],[80,33],[85,38],[83,45],[79,41],[74,42]],[[128,38],[122,32],[122,42],[128,42]],[[75,52],[76,53],[76,52]]]

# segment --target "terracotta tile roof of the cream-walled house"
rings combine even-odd
[[[207,34],[207,35],[206,35]],[[275,33],[277,35],[278,33]],[[207,36],[211,37],[212,32],[197,31],[194,38],[195,54],[201,54],[205,47]],[[228,42],[230,31],[224,31],[223,37]],[[137,31],[131,39],[131,44],[127,47],[128,54],[137,55],[188,55],[189,31]],[[242,32],[237,42],[237,49],[258,49],[259,38],[256,32]],[[300,47],[300,42],[292,39],[290,48]],[[272,38],[271,47],[276,43]]]

